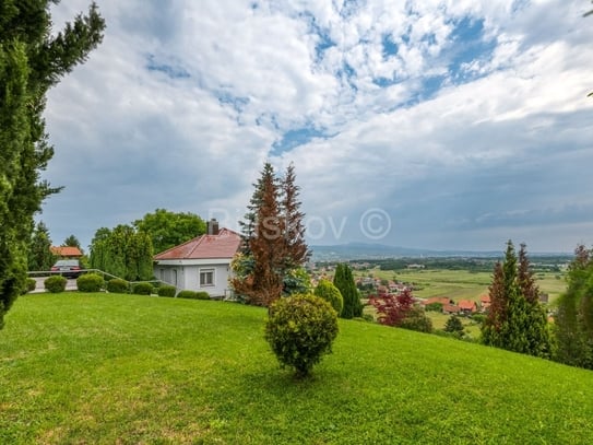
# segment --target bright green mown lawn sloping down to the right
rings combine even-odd
[[[342,321],[294,380],[265,311],[114,294],[21,297],[0,331],[2,444],[588,444],[593,373]]]

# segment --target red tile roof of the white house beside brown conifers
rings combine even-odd
[[[240,244],[241,236],[237,232],[223,227],[217,235],[198,236],[155,255],[154,259],[233,258]]]

